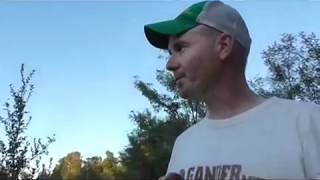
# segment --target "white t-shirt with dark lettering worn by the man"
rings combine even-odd
[[[280,98],[175,141],[167,174],[184,179],[320,179],[320,106]]]

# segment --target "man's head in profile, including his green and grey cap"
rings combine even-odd
[[[196,3],[170,21],[145,26],[149,42],[171,54],[182,97],[203,100],[226,67],[244,73],[251,38],[240,14],[220,1]]]

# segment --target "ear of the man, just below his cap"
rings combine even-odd
[[[217,50],[221,60],[227,59],[231,55],[234,40],[233,38],[225,33],[222,33],[217,38]]]

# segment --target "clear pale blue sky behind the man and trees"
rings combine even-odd
[[[130,111],[149,108],[134,76],[155,84],[162,53],[143,32],[145,24],[169,20],[197,1],[0,1],[0,104],[19,85],[19,69],[36,70],[27,109],[28,135],[56,134],[54,162],[73,151],[84,158],[117,154],[135,127]],[[282,33],[319,37],[320,1],[225,1],[247,23],[251,52],[247,78],[265,76],[261,52]],[[2,108],[0,115],[4,115]],[[4,139],[0,129],[0,139]]]

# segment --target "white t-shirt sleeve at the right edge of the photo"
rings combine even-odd
[[[307,179],[320,179],[320,106],[309,106],[305,117],[300,119],[305,176]]]

